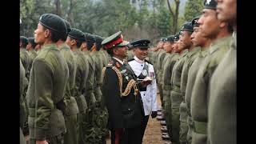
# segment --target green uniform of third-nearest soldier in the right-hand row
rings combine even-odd
[[[189,126],[189,130],[187,133],[187,142],[190,144],[192,141],[192,132],[194,131],[194,125],[191,118],[190,113],[190,101],[191,101],[191,93],[194,86],[194,80],[196,77],[196,74],[198,74],[198,69],[201,66],[202,61],[204,58],[206,58],[207,50],[200,51],[198,54],[198,57],[195,58],[193,64],[190,66],[190,70],[187,74],[187,82],[186,82],[186,93],[185,93],[185,103],[186,103],[186,112],[187,112],[187,122]]]

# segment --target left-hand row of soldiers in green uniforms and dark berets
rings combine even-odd
[[[42,14],[34,38],[20,36],[20,127],[30,144],[106,143],[102,40],[54,14]]]

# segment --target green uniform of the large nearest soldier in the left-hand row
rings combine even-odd
[[[43,17],[43,16],[42,16]],[[30,144],[36,140],[59,143],[66,132],[66,106],[63,101],[69,72],[65,59],[55,44],[42,46],[34,59],[27,91]]]

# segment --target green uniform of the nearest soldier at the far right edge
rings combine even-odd
[[[236,36],[210,79],[208,138],[212,144],[237,143]]]

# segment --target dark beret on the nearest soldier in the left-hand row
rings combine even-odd
[[[39,22],[42,26],[50,30],[54,30],[58,34],[67,34],[66,24],[62,18],[55,14],[42,14],[39,18]]]

